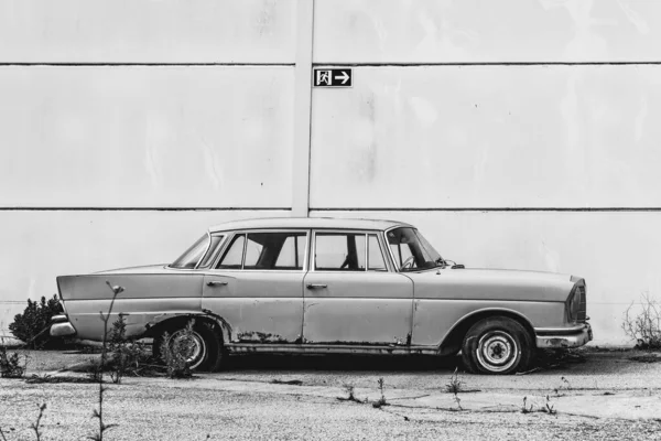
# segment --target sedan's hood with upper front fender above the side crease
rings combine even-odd
[[[405,272],[416,299],[566,301],[574,280],[570,275],[503,269],[438,268]]]

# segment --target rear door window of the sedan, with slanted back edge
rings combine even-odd
[[[217,269],[302,270],[307,234],[248,233],[235,236]]]

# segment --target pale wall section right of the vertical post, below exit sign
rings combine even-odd
[[[661,300],[660,41],[644,0],[317,1],[314,61],[354,87],[313,90],[312,215],[583,276],[595,343],[628,343],[626,308]]]

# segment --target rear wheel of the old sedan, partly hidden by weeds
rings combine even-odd
[[[189,335],[186,334],[186,322],[166,329],[154,337],[152,355],[162,361],[161,347],[169,334],[167,344],[171,348],[182,347],[187,352],[188,368],[196,372],[215,372],[220,369],[225,361],[223,335],[217,326],[207,322],[195,322]]]

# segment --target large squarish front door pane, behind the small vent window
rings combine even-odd
[[[365,271],[366,235],[357,233],[317,233],[317,271]]]

